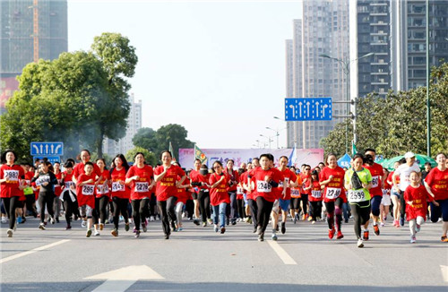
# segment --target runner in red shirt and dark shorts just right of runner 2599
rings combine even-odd
[[[368,148],[365,151],[365,160],[366,163],[364,167],[366,167],[370,174],[372,175],[372,188],[369,189],[370,196],[372,197],[371,202],[371,217],[373,218],[373,228],[375,236],[380,235],[380,227],[378,226],[380,223],[380,204],[383,199],[383,188],[384,181],[387,176],[384,176],[383,167],[378,163],[375,163],[375,149]]]

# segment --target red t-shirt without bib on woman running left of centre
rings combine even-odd
[[[159,176],[164,171],[163,166],[154,169],[154,175]],[[159,182],[157,182],[156,196],[157,201],[167,201],[172,196],[177,196],[177,176],[185,176],[185,171],[181,167],[172,165],[167,169],[167,173]]]

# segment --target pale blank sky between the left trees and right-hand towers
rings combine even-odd
[[[251,148],[271,127],[285,147],[273,116],[284,117],[285,39],[300,15],[300,1],[68,0],[68,45],[88,50],[102,32],[130,39],[145,127],[183,125],[204,149]]]

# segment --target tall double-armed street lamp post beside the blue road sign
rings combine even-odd
[[[334,61],[337,61],[339,64],[340,64],[340,66],[342,67],[342,71],[344,72],[344,74],[345,74],[345,83],[346,83],[346,102],[347,102],[347,114],[349,115],[349,106],[350,106],[350,99],[349,99],[349,74],[350,74],[350,64],[351,64],[351,62],[355,62],[355,61],[358,61],[358,60],[360,60],[360,59],[364,59],[364,58],[366,58],[366,57],[368,57],[368,56],[374,56],[375,55],[375,53],[368,53],[368,54],[366,54],[366,55],[364,55],[364,56],[360,56],[360,57],[358,57],[358,58],[356,58],[356,59],[352,59],[352,60],[349,60],[349,59],[346,59],[346,60],[344,60],[344,59],[338,59],[338,58],[335,58],[335,57],[332,57],[332,56],[328,56],[328,55],[325,55],[325,54],[319,54],[319,56],[322,56],[322,57],[324,57],[324,58],[328,58],[328,59],[332,59],[332,60],[334,60]],[[353,108],[354,108],[354,113],[353,113],[353,142],[354,143],[356,143],[357,142],[357,115],[356,115],[356,112],[357,112],[357,102],[356,102],[356,98],[357,97],[354,97],[353,98]],[[349,117],[349,116],[347,116],[347,117]],[[347,152],[349,152],[349,125],[346,125],[346,128],[345,128],[345,152],[347,153]]]

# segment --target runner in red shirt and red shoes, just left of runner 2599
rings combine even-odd
[[[327,166],[323,167],[319,174],[321,185],[325,186],[323,190],[323,202],[327,210],[328,237],[334,236],[334,215],[336,215],[336,238],[343,237],[341,232],[342,223],[342,203],[347,201],[344,191],[344,169],[338,166],[336,155],[330,153],[326,159]]]

